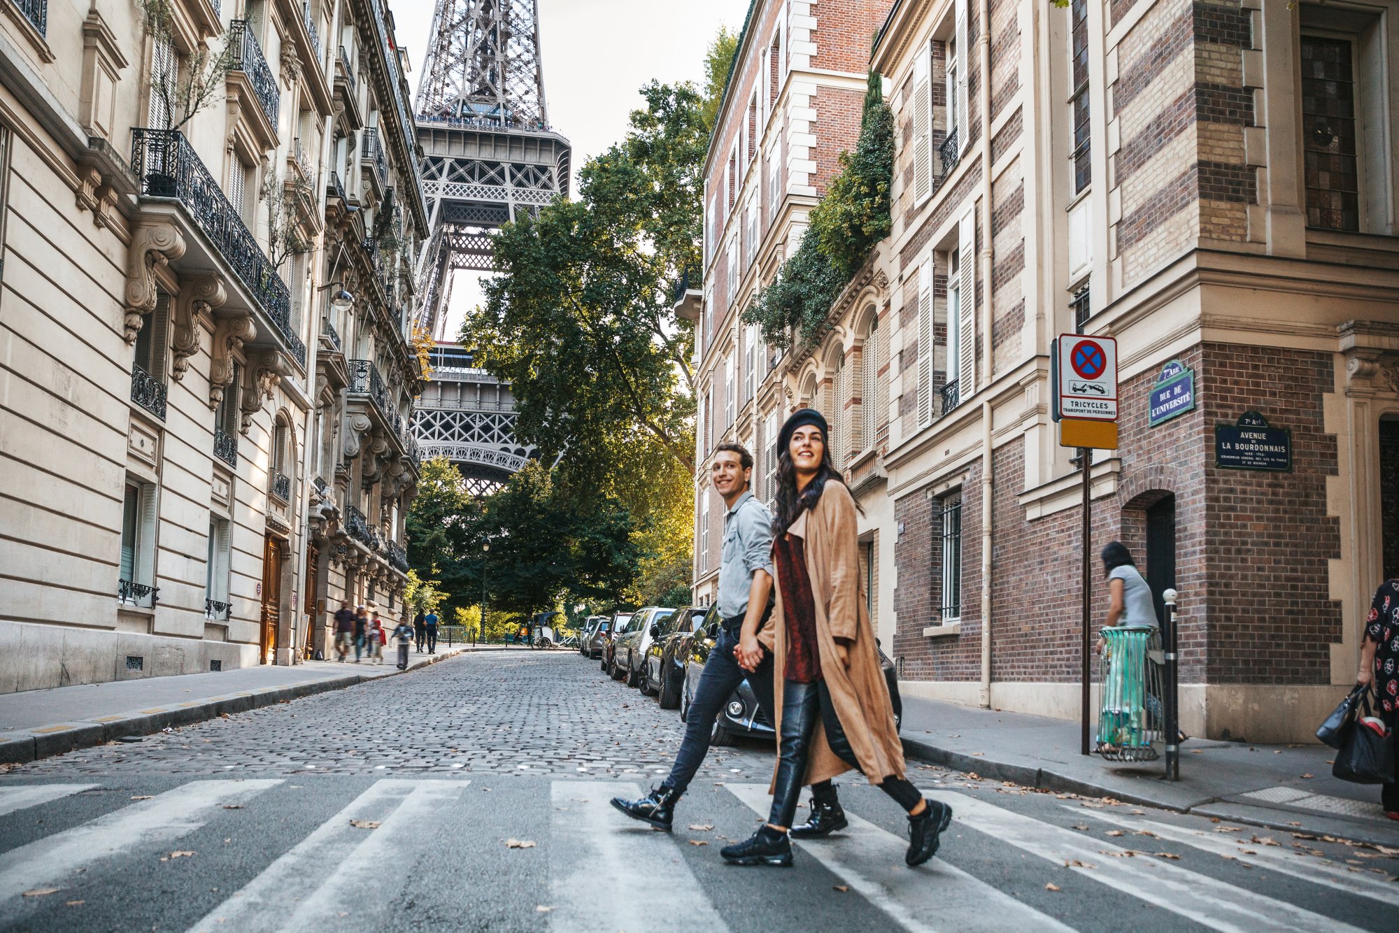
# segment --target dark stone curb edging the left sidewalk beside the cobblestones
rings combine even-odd
[[[241,713],[262,706],[291,702],[302,697],[313,697],[332,690],[346,690],[357,684],[365,684],[389,677],[399,677],[424,667],[429,667],[441,660],[464,655],[473,649],[453,652],[450,655],[431,656],[421,664],[407,670],[395,670],[379,676],[369,676],[360,671],[325,677],[322,680],[301,681],[285,687],[267,687],[264,690],[249,690],[204,701],[192,701],[175,706],[161,706],[141,711],[133,715],[98,716],[94,720],[55,723],[36,729],[20,730],[20,734],[10,739],[0,739],[0,764],[22,765],[41,758],[52,758],[78,748],[91,748],[108,741],[115,741],[125,736],[150,736],[165,727],[192,726],[197,722],[217,719],[224,713]]]

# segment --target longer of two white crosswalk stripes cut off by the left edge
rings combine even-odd
[[[194,781],[10,849],[0,855],[0,916],[20,909],[17,898],[27,890],[62,888],[78,869],[171,843],[208,822],[225,804],[246,803],[280,783],[280,779]]]

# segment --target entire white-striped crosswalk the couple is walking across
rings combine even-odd
[[[1220,832],[1142,810],[1048,800],[1027,811],[996,795],[930,789],[956,818],[940,856],[908,869],[902,820],[890,818],[891,804],[876,792],[851,789],[849,828],[799,842],[793,870],[739,870],[719,862],[725,836],[713,824],[733,838],[746,834],[767,814],[767,785],[693,793],[684,809],[702,809],[712,822],[687,829],[681,817],[674,834],[660,834],[607,804],[639,796],[634,782],[543,779],[543,793],[495,782],[491,793],[477,786],[480,776],[462,778],[320,786],[213,779],[150,795],[112,793],[102,783],[0,785],[0,927],[120,926],[83,911],[99,911],[113,887],[165,870],[157,866],[186,864],[180,856],[196,863],[194,849],[206,853],[187,874],[197,897],[147,905],[161,929],[417,929],[424,911],[442,929],[755,929],[746,913],[751,899],[799,897],[820,912],[832,887],[848,892],[838,904],[849,916],[866,919],[830,913],[825,929],[867,929],[872,916],[876,926],[915,932],[1102,927],[1104,916],[1083,905],[1107,899],[1122,916],[1150,905],[1167,927],[1318,933],[1393,929],[1385,918],[1399,906],[1399,884],[1370,870],[1384,864],[1329,860],[1266,832]],[[66,811],[78,816],[64,820]],[[243,835],[239,846],[221,849],[215,843],[231,843],[229,820],[243,821]],[[55,831],[42,828],[50,824]],[[506,841],[505,825],[530,827],[533,838]],[[445,860],[478,866],[476,883],[424,887]],[[1242,874],[1259,884],[1233,866],[1254,869]],[[165,871],[161,891],[186,877]],[[505,888],[491,888],[490,878],[505,878]],[[1046,894],[1060,885],[1063,894]],[[1349,906],[1330,911],[1330,902]]]

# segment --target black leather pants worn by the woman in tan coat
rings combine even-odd
[[[802,795],[802,781],[806,776],[806,761],[811,753],[811,734],[816,732],[817,718],[825,730],[825,744],[831,747],[831,751],[856,771],[860,767],[855,750],[851,748],[851,741],[845,736],[845,727],[841,726],[841,720],[835,715],[835,705],[831,702],[831,691],[827,690],[825,681],[818,680],[811,684],[783,681],[778,776],[772,788],[772,810],[768,813],[768,824],[774,827],[792,827],[797,799]],[[914,807],[923,800],[918,788],[904,778],[886,778],[877,786],[893,797],[905,813],[912,813]]]

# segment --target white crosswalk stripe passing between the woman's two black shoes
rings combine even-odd
[[[726,786],[754,813],[768,814],[767,785]],[[1072,929],[939,859],[911,870],[907,839],[849,810],[845,818],[851,825],[839,835],[796,845],[905,930]]]

